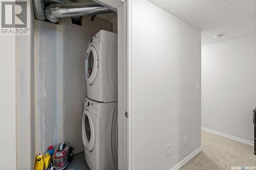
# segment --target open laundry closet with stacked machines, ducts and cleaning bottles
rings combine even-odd
[[[54,168],[126,166],[125,8],[118,0],[33,1],[35,169],[47,154]]]

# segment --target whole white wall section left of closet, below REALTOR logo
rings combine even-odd
[[[28,3],[30,35],[0,35],[0,169],[32,169],[32,15],[32,5]]]

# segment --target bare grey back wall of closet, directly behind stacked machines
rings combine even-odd
[[[70,18],[61,18],[65,29],[65,141],[75,148],[75,153],[83,151],[82,113],[86,96],[84,77],[84,56],[90,38],[100,30],[112,30],[112,23],[91,16],[82,17],[82,26],[73,25]]]

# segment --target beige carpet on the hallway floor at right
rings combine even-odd
[[[205,131],[201,134],[203,151],[185,164],[182,170],[231,169],[231,166],[254,166],[253,169],[256,169],[256,155],[252,146]]]

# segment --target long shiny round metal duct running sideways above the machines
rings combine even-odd
[[[107,7],[89,3],[52,4],[46,8],[46,17],[51,22],[58,22],[59,18],[113,13]]]

